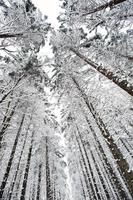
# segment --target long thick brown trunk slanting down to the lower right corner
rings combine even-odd
[[[118,165],[118,168],[120,170],[120,174],[123,177],[127,188],[130,191],[131,196],[133,196],[133,172],[129,171],[129,165],[125,158],[123,158],[123,155],[117,145],[115,144],[112,136],[110,135],[108,129],[106,128],[104,122],[99,117],[98,113],[95,111],[92,103],[89,102],[87,95],[84,93],[84,91],[80,88],[78,82],[74,77],[72,77],[73,82],[76,86],[76,88],[79,90],[81,97],[84,99],[85,104],[89,108],[97,126],[99,127],[103,137],[105,138],[105,141]]]

